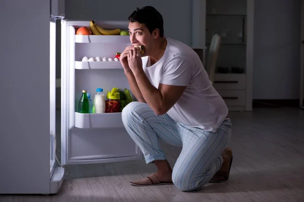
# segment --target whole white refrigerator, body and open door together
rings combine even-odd
[[[5,16],[11,16],[14,24]],[[20,20],[24,16],[27,23]],[[8,67],[0,70],[0,88],[9,96],[2,99],[7,107],[2,110],[6,119],[0,122],[4,134],[0,161],[5,162],[0,167],[0,194],[57,193],[66,165],[141,159],[123,126],[122,113],[77,111],[83,89],[91,93],[92,100],[96,88],[103,88],[104,94],[113,87],[131,91],[120,62],[82,62],[84,56],[115,58],[131,44],[129,36],[76,35],[75,29],[89,26],[89,21],[66,20],[64,0],[6,1],[0,17],[10,28],[10,33],[0,37],[1,51],[5,50],[3,67]],[[104,29],[128,30],[127,21],[92,20]],[[56,21],[61,21],[61,162],[56,156],[55,135]],[[23,37],[18,35],[20,28]],[[35,60],[29,60],[33,54]],[[20,97],[22,102],[18,102]],[[18,111],[21,109],[23,113]],[[12,123],[14,127],[8,127]]]

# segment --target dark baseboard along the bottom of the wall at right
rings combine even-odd
[[[252,108],[299,108],[299,99],[253,99]]]

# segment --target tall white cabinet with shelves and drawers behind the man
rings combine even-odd
[[[212,36],[221,36],[215,89],[229,110],[251,111],[254,0],[198,0],[193,10],[193,46],[207,46],[204,65]]]

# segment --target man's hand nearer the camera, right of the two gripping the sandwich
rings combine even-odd
[[[134,75],[138,74],[141,71],[143,72],[139,47],[133,46],[130,49],[129,55],[128,55],[128,63],[129,63],[129,67],[132,70]]]

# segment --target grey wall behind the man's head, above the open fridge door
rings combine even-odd
[[[155,7],[164,18],[165,35],[192,45],[192,1],[189,0],[65,0],[65,17],[73,20],[128,20],[144,6]]]

